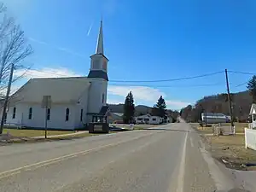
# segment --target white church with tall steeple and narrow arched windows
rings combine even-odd
[[[87,77],[30,79],[11,96],[7,125],[74,130],[108,113],[108,58],[104,55],[102,21],[96,54],[90,56]],[[49,98],[45,106],[43,98]]]

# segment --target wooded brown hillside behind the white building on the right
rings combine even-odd
[[[242,91],[231,94],[234,119],[246,121],[253,102],[253,96],[249,91]],[[200,120],[203,111],[212,113],[224,113],[230,115],[227,94],[222,93],[215,96],[205,96],[195,103],[195,106],[187,106],[181,110],[181,116],[188,121],[197,122]]]

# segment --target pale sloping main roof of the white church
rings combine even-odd
[[[30,79],[11,98],[14,102],[38,103],[43,96],[51,96],[55,103],[77,103],[88,90],[90,80],[84,77]]]

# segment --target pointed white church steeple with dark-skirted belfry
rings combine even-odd
[[[103,49],[103,26],[101,20],[100,32],[96,44],[96,53],[90,56],[90,73],[88,78],[105,79],[108,81],[108,58]]]

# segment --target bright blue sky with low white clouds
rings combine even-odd
[[[168,108],[178,109],[202,96],[226,91],[224,73],[159,83],[125,84],[112,80],[178,79],[225,68],[256,73],[253,0],[3,2],[35,51],[27,64],[42,71],[32,71],[27,78],[53,73],[86,76],[102,15],[111,103],[123,102],[132,90],[136,104],[152,106],[163,95]],[[231,91],[245,90],[245,85],[236,85],[249,78],[230,73]]]

